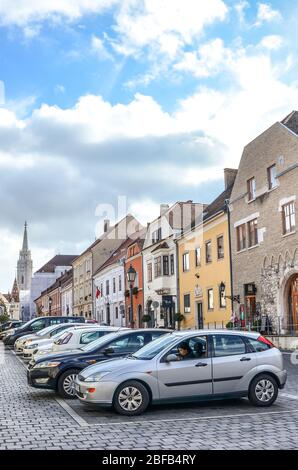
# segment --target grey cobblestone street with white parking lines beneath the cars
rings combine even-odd
[[[297,449],[297,366],[271,408],[247,400],[154,407],[128,419],[27,386],[22,362],[1,344],[0,449]]]

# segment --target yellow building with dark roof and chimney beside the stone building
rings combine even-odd
[[[232,315],[229,225],[226,201],[236,170],[225,170],[226,189],[202,219],[178,240],[181,328],[222,328]]]

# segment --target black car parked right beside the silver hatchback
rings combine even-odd
[[[110,333],[80,349],[32,360],[27,371],[28,384],[35,388],[55,390],[64,398],[75,398],[74,380],[85,367],[128,356],[166,333],[169,330],[122,330]]]

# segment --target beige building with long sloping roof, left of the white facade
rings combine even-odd
[[[139,222],[130,214],[112,227],[106,220],[104,233],[101,237],[73,261],[74,315],[84,315],[86,318],[94,317],[93,275],[123,241],[139,228]]]

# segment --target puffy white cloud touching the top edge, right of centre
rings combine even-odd
[[[120,39],[114,47],[128,55],[149,47],[173,58],[227,11],[222,0],[130,0],[116,15]]]

